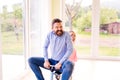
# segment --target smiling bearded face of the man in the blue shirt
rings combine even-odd
[[[52,30],[55,32],[56,35],[62,36],[63,34],[62,23],[54,23],[52,26]]]

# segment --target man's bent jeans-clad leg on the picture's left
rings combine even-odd
[[[40,67],[44,68],[44,58],[41,57],[31,57],[28,60],[29,66],[35,73],[38,80],[44,80]]]

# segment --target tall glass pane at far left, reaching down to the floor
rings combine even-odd
[[[24,70],[22,0],[0,0],[3,80],[12,80]]]

